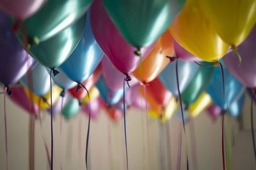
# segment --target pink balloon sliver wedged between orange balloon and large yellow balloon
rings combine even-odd
[[[174,51],[175,51],[175,55],[178,59],[185,60],[185,61],[200,60],[197,57],[195,57],[193,54],[191,54],[187,50],[185,50],[176,41],[174,41]]]

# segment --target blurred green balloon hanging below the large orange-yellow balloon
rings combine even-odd
[[[200,62],[203,66],[212,66],[212,62]],[[208,87],[214,73],[214,67],[199,67],[193,80],[182,92],[181,97],[184,104],[189,105]]]

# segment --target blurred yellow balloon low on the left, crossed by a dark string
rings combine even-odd
[[[52,104],[56,103],[60,97],[61,88],[57,85],[52,86]],[[47,94],[45,94],[44,98],[47,102],[42,101],[42,97],[36,96],[32,92],[30,92],[28,89],[25,89],[26,94],[28,95],[29,99],[33,101],[41,110],[44,110],[46,108],[50,108],[51,104],[51,91],[49,91]]]

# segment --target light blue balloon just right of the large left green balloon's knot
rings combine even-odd
[[[50,73],[51,69],[47,68],[48,72]],[[64,90],[71,89],[77,85],[75,81],[70,80],[68,76],[63,72],[63,70],[60,67],[56,68],[57,71],[59,71],[56,76],[52,75],[52,80],[56,85],[61,87]]]

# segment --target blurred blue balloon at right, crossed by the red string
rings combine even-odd
[[[221,63],[223,64],[222,61]],[[241,94],[244,93],[245,87],[229,73],[225,64],[223,64],[223,71],[225,79],[225,97],[223,97],[223,83],[220,66],[216,67],[212,81],[207,88],[207,92],[212,97],[215,104],[220,106],[223,110],[227,110],[227,103],[237,101],[237,97],[240,97]]]

